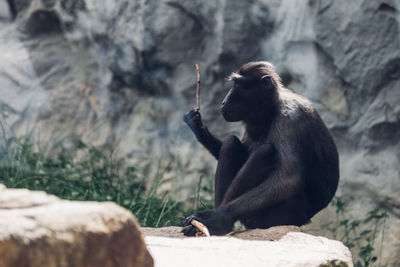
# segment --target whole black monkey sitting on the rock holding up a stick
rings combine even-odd
[[[328,205],[339,182],[336,145],[306,98],[283,87],[268,62],[250,62],[231,74],[222,102],[225,120],[242,121],[241,140],[219,140],[192,110],[184,121],[218,160],[215,210],[181,217],[185,235],[193,219],[222,235],[240,220],[246,228],[301,226]]]

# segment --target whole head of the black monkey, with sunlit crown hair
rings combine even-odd
[[[229,80],[233,86],[221,107],[226,121],[255,121],[277,104],[278,88],[282,85],[271,63],[247,63],[233,72]]]

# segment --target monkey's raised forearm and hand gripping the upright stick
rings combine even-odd
[[[200,112],[193,109],[185,114],[183,120],[190,127],[197,140],[216,158],[219,157],[222,142],[213,136],[201,121]]]

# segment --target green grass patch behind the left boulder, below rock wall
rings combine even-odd
[[[9,188],[41,190],[69,200],[113,201],[135,214],[142,226],[179,225],[184,203],[160,195],[163,169],[158,165],[149,188],[134,166],[122,169],[111,151],[76,142],[61,143],[47,155],[29,136],[7,140],[3,124],[0,142],[0,183]]]

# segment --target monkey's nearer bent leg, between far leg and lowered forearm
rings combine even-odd
[[[264,144],[254,151],[241,166],[224,194],[222,205],[244,194],[268,179],[277,165],[277,151],[271,144]]]

